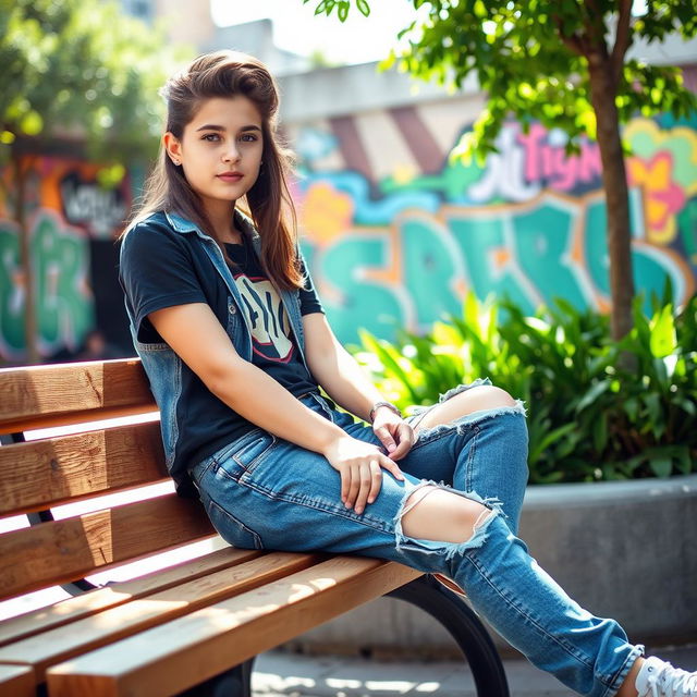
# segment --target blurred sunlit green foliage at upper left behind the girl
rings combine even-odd
[[[147,158],[157,90],[182,58],[113,2],[0,0],[0,143],[77,138],[96,159]]]

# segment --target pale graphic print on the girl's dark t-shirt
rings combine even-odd
[[[288,363],[293,355],[293,342],[279,292],[261,277],[240,273],[234,279],[249,319],[254,352],[268,360]]]

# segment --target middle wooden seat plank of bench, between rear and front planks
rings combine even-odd
[[[113,644],[120,638],[213,604],[233,594],[289,576],[320,560],[317,554],[264,554],[232,568],[208,574],[4,646],[0,648],[0,662],[32,665],[37,681],[41,682],[46,670],[59,661]]]

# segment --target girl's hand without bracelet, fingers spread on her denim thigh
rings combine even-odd
[[[402,470],[377,445],[344,436],[334,440],[323,453],[341,475],[341,501],[360,514],[372,503],[382,486],[382,469],[395,479],[404,479]]]

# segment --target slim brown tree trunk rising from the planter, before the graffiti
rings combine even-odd
[[[611,332],[622,339],[633,327],[632,234],[629,231],[629,191],[615,107],[615,86],[610,61],[589,63],[590,100],[596,112],[598,147],[602,161],[602,184],[608,216],[610,255]]]

